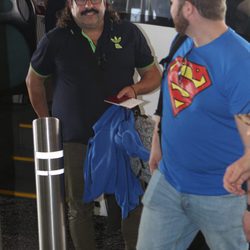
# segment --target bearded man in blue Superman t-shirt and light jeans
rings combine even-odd
[[[200,230],[211,250],[247,250],[246,197],[228,193],[223,176],[231,164],[250,167],[249,43],[225,24],[225,0],[171,4],[188,37],[162,80],[137,249],[184,250]]]

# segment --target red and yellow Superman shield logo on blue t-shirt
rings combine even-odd
[[[168,88],[174,116],[189,107],[196,95],[211,85],[204,66],[177,57],[170,65]]]

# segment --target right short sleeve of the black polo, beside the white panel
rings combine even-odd
[[[135,66],[136,68],[144,68],[153,62],[154,57],[148,43],[139,28],[135,26]]]

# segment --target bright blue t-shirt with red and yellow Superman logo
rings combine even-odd
[[[160,170],[178,191],[223,195],[243,154],[234,115],[250,113],[250,46],[232,29],[196,48],[188,38],[163,79]]]

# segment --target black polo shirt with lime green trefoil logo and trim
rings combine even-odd
[[[106,14],[96,48],[72,23],[43,37],[31,66],[39,75],[55,77],[52,115],[61,121],[63,140],[86,144],[92,126],[109,107],[104,99],[133,84],[135,68],[153,60],[134,24],[113,22]]]

